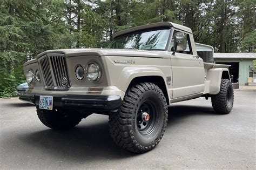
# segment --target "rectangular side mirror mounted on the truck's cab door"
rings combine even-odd
[[[185,51],[187,47],[187,34],[182,32],[176,32],[173,35],[174,38],[174,50],[172,55],[175,55],[176,51]]]

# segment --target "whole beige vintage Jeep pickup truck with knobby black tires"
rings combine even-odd
[[[203,62],[190,28],[160,22],[114,34],[107,49],[39,54],[24,65],[29,89],[20,99],[35,104],[42,123],[55,130],[92,113],[109,115],[114,142],[143,153],[163,137],[172,103],[211,97],[215,112],[230,113],[228,67]]]

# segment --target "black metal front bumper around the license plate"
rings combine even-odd
[[[39,105],[39,94],[24,93],[23,96],[19,96],[19,99],[29,103],[33,103],[36,106]],[[122,99],[118,95],[102,96],[102,95],[50,95],[53,97],[53,108],[76,108],[86,109],[88,111],[116,111],[120,108]]]

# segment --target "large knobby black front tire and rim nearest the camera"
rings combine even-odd
[[[151,118],[142,130],[139,120],[144,120],[141,119],[144,109]],[[109,115],[110,134],[120,147],[144,153],[159,143],[164,135],[167,119],[168,109],[163,92],[155,84],[139,83],[127,90],[119,111]]]

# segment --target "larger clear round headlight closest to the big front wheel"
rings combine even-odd
[[[96,63],[90,63],[87,66],[86,73],[87,73],[87,79],[90,81],[98,81],[101,76],[99,65]]]

